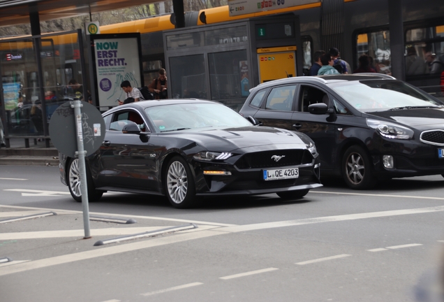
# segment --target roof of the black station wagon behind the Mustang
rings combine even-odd
[[[269,82],[263,82],[258,86],[250,89],[250,92],[253,89],[262,89],[265,87],[282,85],[282,84],[290,84],[290,83],[322,83],[329,84],[332,82],[343,82],[343,81],[355,81],[355,80],[396,80],[391,75],[385,75],[383,73],[354,73],[354,74],[341,74],[341,75],[316,75],[316,76],[300,76],[293,78],[281,78],[279,80],[272,80]]]

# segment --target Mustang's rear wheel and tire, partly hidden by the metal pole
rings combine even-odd
[[[82,202],[82,192],[80,191],[80,168],[79,159],[71,159],[68,163],[68,172],[66,173],[66,182],[68,183],[69,192],[73,199]],[[96,190],[92,181],[91,172],[87,168],[87,186],[88,201],[98,201],[103,195],[103,191]]]

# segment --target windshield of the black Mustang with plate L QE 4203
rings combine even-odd
[[[251,122],[219,103],[181,103],[145,109],[161,132],[205,127],[246,127]]]

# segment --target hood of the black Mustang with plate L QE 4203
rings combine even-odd
[[[279,149],[306,148],[305,142],[309,140],[308,137],[304,138],[303,134],[272,127],[193,129],[180,133],[183,135],[182,138],[185,136],[207,150],[219,152],[232,152],[240,148],[263,145],[279,145]]]

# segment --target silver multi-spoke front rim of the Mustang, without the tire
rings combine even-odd
[[[168,194],[175,203],[182,203],[188,192],[188,178],[184,165],[174,161],[168,168],[167,174]]]

